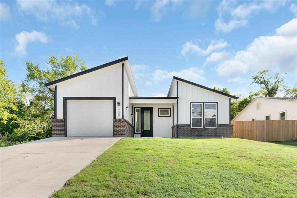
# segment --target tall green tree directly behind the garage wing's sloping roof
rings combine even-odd
[[[54,117],[54,92],[48,89],[45,84],[86,70],[86,65],[77,54],[66,57],[51,55],[47,64],[48,69],[42,70],[38,63],[26,61],[28,73],[25,80],[22,81],[22,92],[29,93],[31,96],[30,113],[32,116],[43,117],[50,121]]]

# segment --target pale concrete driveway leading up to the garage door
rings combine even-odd
[[[48,197],[119,139],[51,137],[1,148],[0,197]]]

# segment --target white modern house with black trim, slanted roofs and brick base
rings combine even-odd
[[[53,136],[232,136],[237,97],[173,77],[167,97],[138,97],[128,57],[46,84]]]

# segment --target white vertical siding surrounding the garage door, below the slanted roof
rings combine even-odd
[[[116,97],[122,104],[121,86],[121,63],[62,81],[57,84],[57,118],[63,118],[63,97]],[[121,108],[116,109],[116,118],[121,118]]]

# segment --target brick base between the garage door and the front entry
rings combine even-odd
[[[126,119],[114,119],[113,136],[134,137],[134,126]]]

